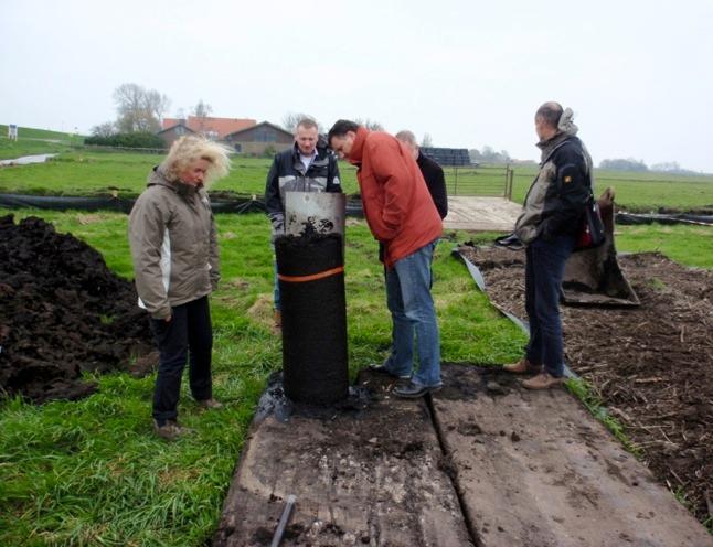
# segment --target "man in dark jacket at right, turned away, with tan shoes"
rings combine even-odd
[[[545,103],[538,109],[535,131],[542,161],[515,223],[515,234],[526,245],[530,341],[525,356],[504,369],[538,373],[523,382],[531,389],[558,385],[564,375],[560,287],[593,180],[592,158],[576,137],[572,117],[572,110],[563,111],[557,103]]]

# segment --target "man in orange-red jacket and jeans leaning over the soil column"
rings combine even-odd
[[[358,167],[369,227],[384,247],[392,350],[376,372],[409,382],[394,394],[416,398],[440,388],[440,341],[430,296],[434,250],[443,225],[411,151],[394,137],[349,120],[330,129],[329,146]],[[418,371],[413,371],[414,332]]]

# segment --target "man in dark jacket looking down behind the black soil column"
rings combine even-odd
[[[304,118],[295,128],[295,146],[275,155],[265,184],[265,208],[273,240],[285,233],[286,192],[341,192],[337,157],[319,141],[317,122]],[[283,324],[279,285],[275,272],[275,326]]]

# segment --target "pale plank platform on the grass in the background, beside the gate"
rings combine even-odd
[[[512,232],[522,206],[504,197],[448,196],[446,229]]]

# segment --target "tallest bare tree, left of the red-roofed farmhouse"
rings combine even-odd
[[[114,92],[119,132],[156,132],[161,129],[161,118],[170,100],[156,89],[145,89],[138,84],[121,84]]]

